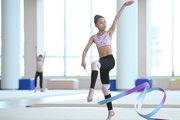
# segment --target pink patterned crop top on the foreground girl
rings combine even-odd
[[[100,48],[100,47],[106,46],[106,45],[111,46],[111,44],[112,44],[111,39],[109,38],[107,31],[101,36],[98,36],[96,34],[94,36],[94,42],[95,42],[97,48]]]

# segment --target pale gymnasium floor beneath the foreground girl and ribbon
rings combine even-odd
[[[103,100],[101,91],[96,90],[94,100],[87,103],[87,90],[0,90],[0,120],[105,120],[107,109],[98,105]],[[114,91],[112,96],[121,92]],[[113,101],[116,115],[112,120],[144,120],[134,109],[139,92]],[[166,91],[166,102],[153,117],[179,120],[180,91]],[[146,96],[142,113],[147,114],[162,100],[161,92]]]

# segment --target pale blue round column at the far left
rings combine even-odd
[[[2,0],[1,89],[19,88],[21,78],[21,0]]]

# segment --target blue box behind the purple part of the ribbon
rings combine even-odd
[[[136,79],[136,86],[138,86],[138,85],[140,85],[140,84],[142,84],[142,83],[145,83],[145,82],[148,82],[149,83],[149,85],[150,85],[150,88],[152,88],[152,79],[151,78],[138,78],[138,79]],[[144,88],[142,88],[141,90],[139,90],[139,91],[143,91],[144,90]]]

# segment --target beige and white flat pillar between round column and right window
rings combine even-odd
[[[138,77],[151,76],[151,1],[138,0]]]

